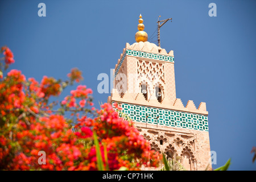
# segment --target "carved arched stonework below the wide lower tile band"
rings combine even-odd
[[[196,134],[189,134],[185,131],[180,133],[171,129],[152,130],[151,127],[142,127],[141,125],[138,125],[138,130],[150,142],[151,149],[160,154],[164,153],[167,160],[177,156],[179,157],[178,161],[186,170],[204,169],[200,160],[197,160],[199,155],[196,155],[196,151],[200,150],[200,146],[195,147],[195,144],[200,141],[197,141]]]

